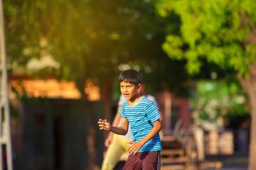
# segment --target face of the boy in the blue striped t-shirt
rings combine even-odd
[[[138,94],[139,89],[142,88],[142,84],[135,86],[135,84],[129,83],[127,81],[120,82],[120,90],[122,95],[127,100],[132,100],[134,96]]]

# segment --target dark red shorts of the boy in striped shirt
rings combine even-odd
[[[129,155],[123,170],[160,170],[160,151]]]

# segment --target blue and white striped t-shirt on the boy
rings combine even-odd
[[[123,118],[127,118],[132,130],[132,142],[142,140],[153,128],[153,123],[161,118],[154,103],[142,96],[142,100],[136,106],[128,106],[128,101],[119,110]],[[162,150],[159,133],[146,142],[139,152]]]

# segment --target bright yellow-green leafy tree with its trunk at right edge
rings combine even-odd
[[[168,1],[156,3],[159,14],[180,19],[177,34],[166,36],[165,52],[175,60],[185,59],[190,74],[200,72],[203,63],[233,69],[250,98],[250,165],[256,169],[256,4],[254,1]]]

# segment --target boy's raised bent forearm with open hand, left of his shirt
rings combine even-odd
[[[110,130],[111,132],[116,133],[117,135],[126,135],[128,132],[129,122],[127,118],[122,118],[122,125],[120,127],[112,126],[110,121],[105,119],[100,119],[98,122],[100,130]]]

